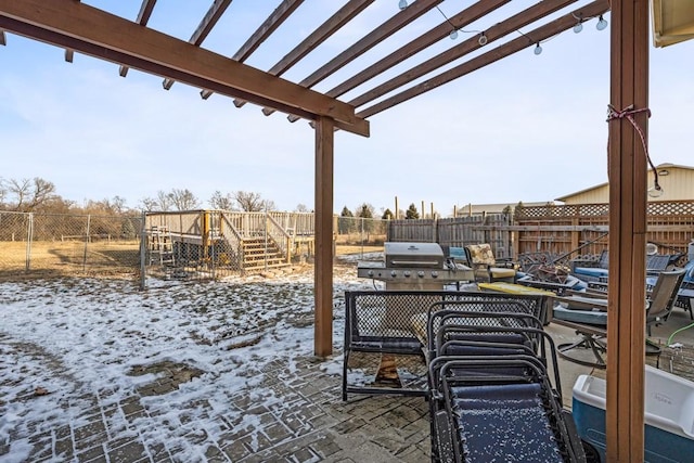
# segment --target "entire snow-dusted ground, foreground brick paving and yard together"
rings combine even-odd
[[[335,268],[334,338],[345,290]],[[427,461],[422,398],[340,399],[313,356],[313,274],[0,283],[3,462]]]

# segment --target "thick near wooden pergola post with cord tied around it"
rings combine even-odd
[[[607,461],[644,449],[648,1],[612,0]]]

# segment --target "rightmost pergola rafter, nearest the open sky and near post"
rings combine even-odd
[[[494,63],[513,53],[516,53],[529,46],[534,46],[542,40],[547,40],[550,37],[567,30],[576,25],[576,17],[580,17],[580,15],[582,15],[582,17],[593,17],[607,11],[609,11],[608,0],[597,0],[589,3],[581,9],[575,10],[569,14],[561,16],[557,20],[554,20],[543,26],[538,27],[537,29],[534,29],[530,33],[525,34],[523,37],[511,40],[502,44],[501,47],[476,56],[473,60],[470,60],[455,67],[452,67],[435,77],[432,77],[430,79],[427,79],[400,93],[387,98],[374,104],[373,106],[360,111],[357,113],[357,115],[363,118],[371,117],[374,114],[381,113],[397,104],[411,100],[414,97],[426,93],[429,90],[434,90],[435,88],[458,79],[459,77],[462,77],[466,74],[470,74],[473,70],[477,70],[484,66],[487,66],[488,64]],[[355,104],[354,102],[350,103]]]

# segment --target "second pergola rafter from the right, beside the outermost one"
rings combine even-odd
[[[504,20],[501,23],[498,23],[489,27],[487,30],[485,30],[485,36],[487,37],[487,47],[489,46],[489,43],[493,42],[494,40],[505,37],[511,33],[515,33],[519,28],[525,27],[528,24],[535,23],[536,21],[541,20],[542,17],[549,14],[552,14],[574,2],[576,2],[576,0],[545,0],[545,1],[541,1],[539,3],[534,4],[532,7],[527,8],[526,10],[519,12],[518,14],[515,14],[509,17],[507,20]],[[575,22],[576,20],[574,20],[574,23]],[[535,31],[526,34],[526,36],[531,37],[535,41],[540,41],[539,38],[536,39]],[[529,40],[527,38],[526,39],[519,38],[516,40],[516,42],[527,46],[529,43]],[[478,50],[481,47],[483,46],[479,44],[478,36],[471,37],[467,40],[459,43],[458,46],[451,47],[445,52],[439,53],[438,55],[414,66],[411,69],[408,69],[407,72],[400,74],[399,76],[396,76],[393,79],[387,80],[377,87],[374,87],[373,89],[364,92],[363,94],[352,99],[349,103],[355,105],[356,107],[362,106],[369,103],[370,101],[373,101],[380,97],[383,97],[384,94],[395,89],[398,89],[422,76],[425,76],[426,74],[429,74],[440,68],[441,66],[447,65],[448,63],[452,63],[454,60],[458,60],[459,57],[462,57],[475,50]],[[496,52],[497,51],[494,50],[493,53]],[[327,94],[330,94],[331,97],[335,97],[334,94],[332,94],[332,92],[329,92]]]

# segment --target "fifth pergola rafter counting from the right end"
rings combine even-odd
[[[281,76],[284,74],[288,68],[313,51],[316,47],[327,40],[327,38],[339,30],[340,27],[350,22],[374,1],[375,0],[349,0],[343,8],[337,10],[335,14],[304,39],[301,43],[284,55],[282,60],[268,70],[268,74],[272,74],[273,76]],[[234,100],[234,105],[236,105],[236,107],[241,107],[244,104],[246,104],[246,102],[243,100]]]

